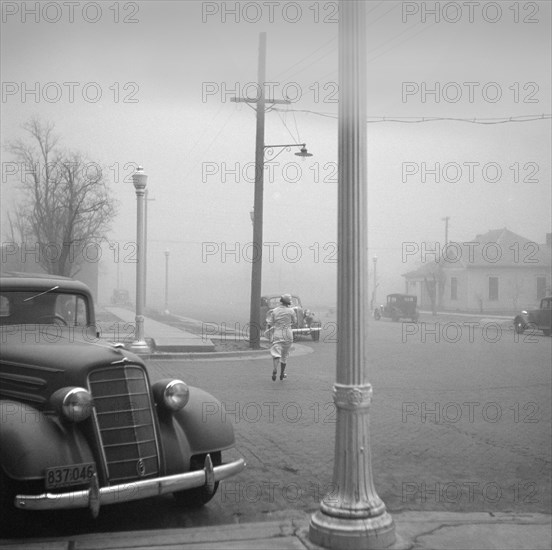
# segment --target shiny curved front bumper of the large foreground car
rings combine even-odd
[[[186,491],[195,487],[210,487],[214,490],[217,481],[239,474],[245,468],[240,458],[220,466],[214,466],[208,455],[203,470],[195,470],[172,476],[133,481],[121,485],[98,487],[94,474],[90,487],[66,493],[43,493],[40,495],[16,495],[14,505],[22,510],[61,510],[89,508],[96,517],[103,504],[115,504],[142,500],[154,496]]]

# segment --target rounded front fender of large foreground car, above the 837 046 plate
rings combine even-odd
[[[46,468],[95,462],[78,424],[11,400],[0,400],[0,416],[0,466],[12,479],[42,479]]]

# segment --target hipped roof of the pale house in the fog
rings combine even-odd
[[[440,252],[439,262],[435,261],[435,255],[428,254],[426,263],[403,277],[424,278],[436,274],[439,268],[552,267],[549,245],[531,241],[507,228],[476,235],[471,241],[449,242]]]

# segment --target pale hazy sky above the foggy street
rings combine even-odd
[[[148,305],[163,300],[169,249],[171,300],[190,315],[220,306],[247,318],[255,114],[230,98],[254,95],[266,32],[269,89],[292,103],[267,113],[265,143],[306,142],[314,156],[284,151],[265,172],[274,256],[263,291],[335,303],[337,2],[35,4],[2,2],[2,143],[39,115],[64,146],[102,164],[121,203],[109,238],[122,253],[135,240],[128,176],[143,165],[154,199]],[[444,241],[445,216],[450,240],[508,227],[544,242],[550,120],[518,117],[551,112],[550,2],[367,4],[369,255],[379,293],[403,290],[400,275],[414,267],[402,262],[403,243]],[[16,197],[10,160],[3,152],[2,214]],[[134,267],[119,266],[131,291]],[[101,273],[107,300],[117,273],[108,248]]]

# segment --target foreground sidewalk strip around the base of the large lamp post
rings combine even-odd
[[[0,541],[0,550],[287,550],[319,547],[309,540],[310,516],[278,521],[77,535],[41,541]],[[392,514],[392,550],[544,550],[552,547],[546,514],[401,512]]]

